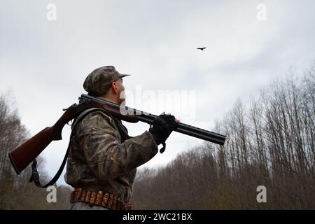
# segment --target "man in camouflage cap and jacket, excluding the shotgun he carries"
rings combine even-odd
[[[125,101],[123,77],[113,66],[90,73],[83,84],[88,95],[116,104]],[[158,153],[179,120],[158,116],[149,131],[129,137],[121,120],[102,109],[87,109],[73,121],[66,183],[75,188],[71,209],[132,209],[137,167]]]

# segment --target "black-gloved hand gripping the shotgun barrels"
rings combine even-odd
[[[152,134],[156,144],[163,144],[165,148],[166,139],[169,137],[172,131],[176,129],[178,124],[179,120],[175,119],[174,116],[171,114],[162,113],[155,119],[152,127],[150,127],[149,132]]]

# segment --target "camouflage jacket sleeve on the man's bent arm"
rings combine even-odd
[[[85,160],[99,180],[116,179],[158,153],[158,146],[147,131],[121,144],[113,118],[102,111],[83,118],[78,133]]]

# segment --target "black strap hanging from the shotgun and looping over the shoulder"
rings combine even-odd
[[[80,115],[73,121],[73,125],[72,125],[71,129],[73,130],[73,128],[76,126],[76,124],[78,124],[78,122],[80,120],[82,120],[85,116],[87,116],[88,113],[92,113],[94,111],[102,111],[102,112],[106,113],[108,116],[110,116],[111,118],[113,118],[113,116],[111,116],[111,114],[109,112],[107,112],[103,109],[96,109],[96,108],[87,109],[87,110],[83,111],[82,113],[80,113]],[[113,118],[113,120],[115,121],[116,126],[118,127],[118,130],[119,130],[120,134],[122,135],[122,137],[124,139],[130,139],[131,137],[127,134],[127,130],[125,129],[123,124],[118,123],[115,118]],[[57,182],[60,175],[62,174],[62,171],[64,170],[64,166],[66,165],[66,160],[68,158],[69,151],[70,151],[72,133],[73,132],[71,132],[71,135],[70,135],[68,148],[66,149],[66,155],[64,155],[64,160],[62,161],[62,165],[59,167],[57,174],[55,174],[55,176],[48,183],[46,183],[44,186],[41,185],[41,182],[39,181],[39,174],[37,171],[37,161],[35,159],[33,161],[33,163],[31,164],[31,179],[29,179],[29,182],[34,181],[35,185],[38,188],[47,188],[48,186],[52,186]]]

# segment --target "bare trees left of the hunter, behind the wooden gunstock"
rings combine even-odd
[[[30,169],[17,176],[8,159],[8,153],[29,138],[17,111],[10,104],[10,96],[0,95],[0,209],[67,209],[70,189],[56,186],[57,202],[47,202],[46,189],[29,183]],[[43,169],[43,158],[38,158],[41,181],[48,180]]]

